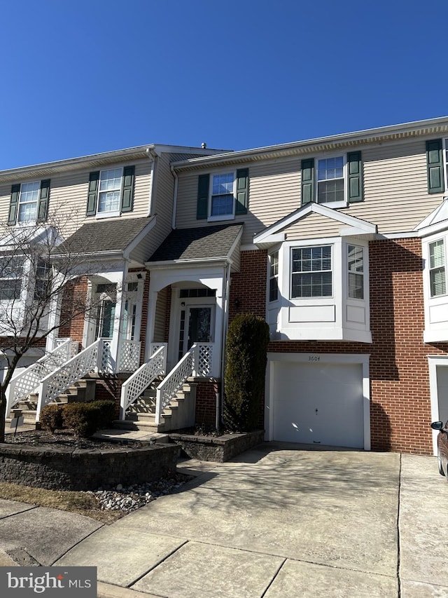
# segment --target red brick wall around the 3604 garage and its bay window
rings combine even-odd
[[[370,329],[373,344],[316,342],[316,353],[370,354],[370,425],[373,450],[432,454],[429,369],[426,355],[446,355],[448,343],[423,343],[421,240],[370,243]],[[230,318],[265,316],[265,251],[243,252],[232,275]],[[235,299],[241,300],[235,306]],[[309,353],[309,342],[275,341],[269,351]]]

